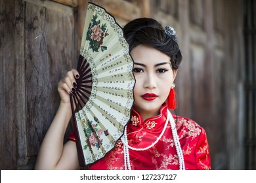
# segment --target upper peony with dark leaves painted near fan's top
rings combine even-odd
[[[100,25],[100,20],[97,20],[98,15],[95,14],[89,24],[89,29],[87,31],[86,40],[89,41],[89,48],[93,50],[93,52],[98,52],[98,49],[102,52],[107,50],[107,46],[102,45],[104,37],[108,36],[109,34],[107,25],[102,24]]]

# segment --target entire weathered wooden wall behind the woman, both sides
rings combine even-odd
[[[87,1],[0,2],[0,168],[33,169],[58,81],[77,61]],[[207,131],[213,169],[244,169],[242,0],[92,2],[121,25],[152,17],[175,27],[183,56],[177,114]]]

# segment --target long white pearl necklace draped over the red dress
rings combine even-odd
[[[124,154],[123,156],[124,156],[125,170],[127,170],[127,169],[131,170],[129,149],[135,150],[135,151],[144,151],[144,150],[148,150],[149,148],[152,148],[152,146],[154,146],[163,136],[163,133],[165,132],[168,122],[170,122],[170,124],[171,124],[171,131],[173,133],[173,141],[174,141],[175,148],[176,148],[178,158],[179,158],[179,169],[180,170],[185,169],[184,157],[182,154],[181,144],[179,142],[179,136],[177,134],[175,121],[173,119],[173,116],[171,115],[171,112],[169,112],[169,110],[167,110],[167,119],[166,119],[165,125],[163,127],[163,131],[161,131],[161,134],[156,139],[156,141],[154,141],[150,146],[147,146],[146,148],[134,148],[132,146],[129,146],[128,139],[127,139],[127,126],[125,126],[125,131],[124,131],[123,137],[121,137],[121,141],[123,142],[123,154]]]

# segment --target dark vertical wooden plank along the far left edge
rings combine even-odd
[[[1,169],[16,167],[14,0],[0,1],[0,147]],[[12,49],[11,49],[12,48]]]

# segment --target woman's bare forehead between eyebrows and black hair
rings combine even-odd
[[[156,48],[139,44],[131,50],[131,56],[137,63],[144,63],[145,65],[156,65],[158,63],[171,63],[170,57],[163,54]]]

